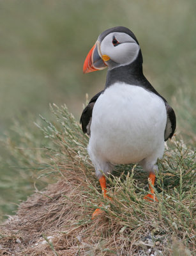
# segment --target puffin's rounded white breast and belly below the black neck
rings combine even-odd
[[[114,164],[138,163],[155,152],[162,157],[166,122],[165,103],[155,93],[116,83],[94,104],[89,155]]]

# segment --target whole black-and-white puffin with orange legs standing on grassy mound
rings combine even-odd
[[[94,95],[80,117],[104,198],[109,198],[106,177],[115,164],[137,163],[149,175],[150,193],[144,198],[158,201],[153,189],[157,161],[163,156],[165,141],[174,135],[176,115],[147,81],[142,63],[137,38],[123,26],[98,36],[84,61],[84,74],[108,68],[105,88]],[[92,218],[101,212],[96,209]]]

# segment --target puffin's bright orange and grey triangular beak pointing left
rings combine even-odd
[[[84,61],[84,66],[83,66],[84,74],[107,68],[107,64],[105,63],[105,61],[108,61],[109,57],[105,58],[105,56],[102,56],[102,57],[100,56],[102,56],[100,52],[100,42],[96,41],[96,43],[87,54],[86,59]]]

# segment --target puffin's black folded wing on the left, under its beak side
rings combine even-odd
[[[82,115],[80,117],[80,124],[82,124],[82,131],[84,133],[87,133],[89,136],[91,135],[91,119],[92,119],[94,103],[103,92],[104,90],[94,95],[94,97],[90,100],[89,104],[87,104],[86,108],[83,110]]]

